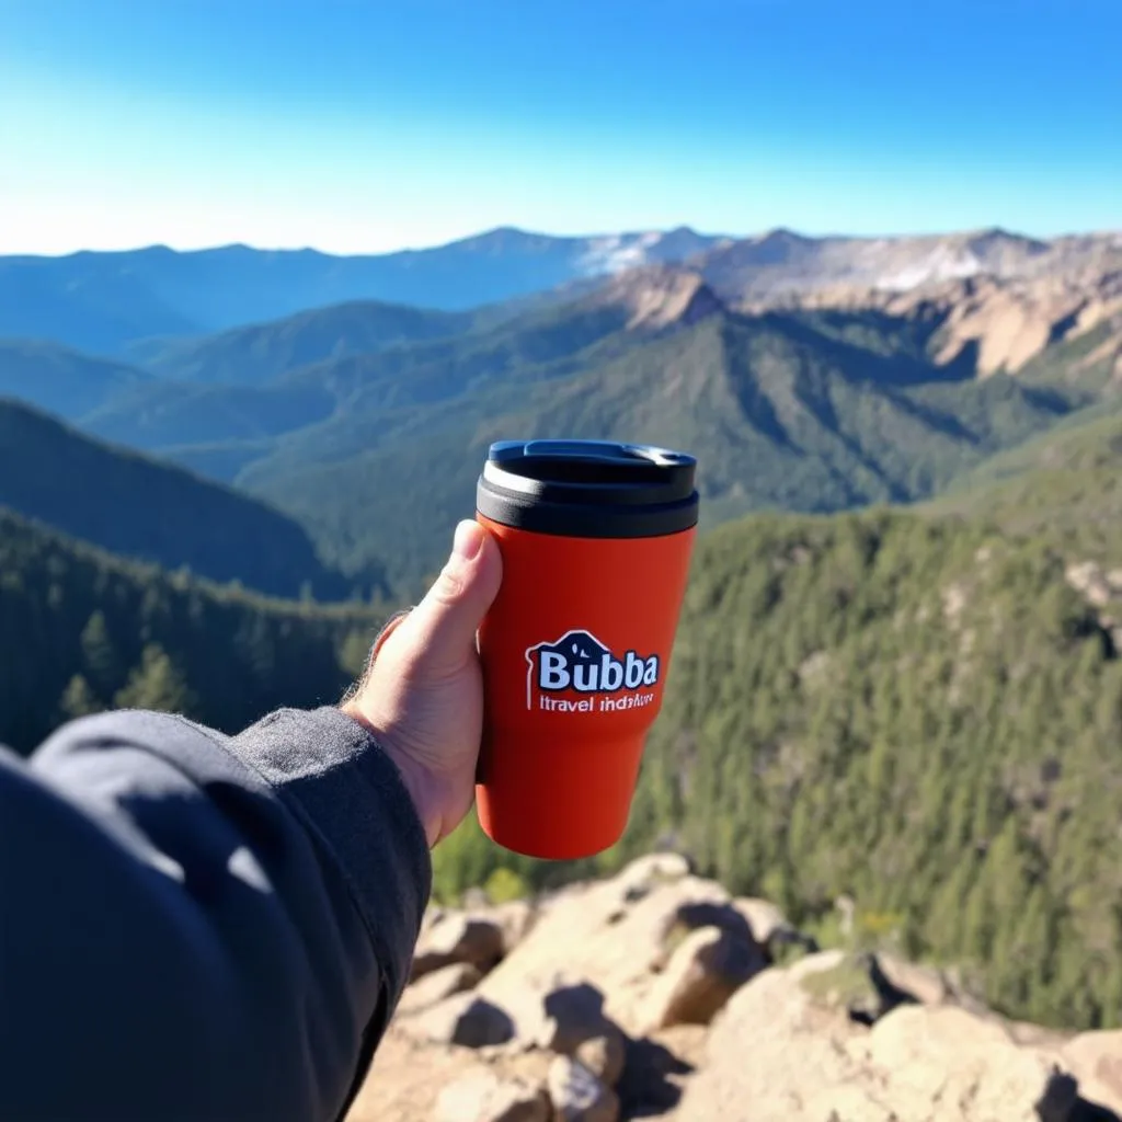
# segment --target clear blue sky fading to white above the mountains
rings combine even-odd
[[[0,0],[0,252],[1122,228],[1120,0]]]

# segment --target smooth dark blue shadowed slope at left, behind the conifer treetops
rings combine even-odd
[[[0,505],[116,553],[273,595],[383,590],[377,569],[353,580],[328,569],[296,523],[249,496],[3,399]]]

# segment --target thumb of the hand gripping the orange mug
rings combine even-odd
[[[440,576],[394,636],[408,652],[408,662],[432,673],[456,670],[473,657],[476,632],[502,579],[497,543],[479,523],[461,522]]]

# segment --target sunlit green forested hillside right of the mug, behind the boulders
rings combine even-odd
[[[670,840],[827,930],[847,894],[866,930],[965,966],[1014,1015],[1116,1026],[1120,620],[1118,521],[1086,550],[888,512],[720,527],[600,865]],[[438,884],[503,864],[571,875],[469,828]]]

